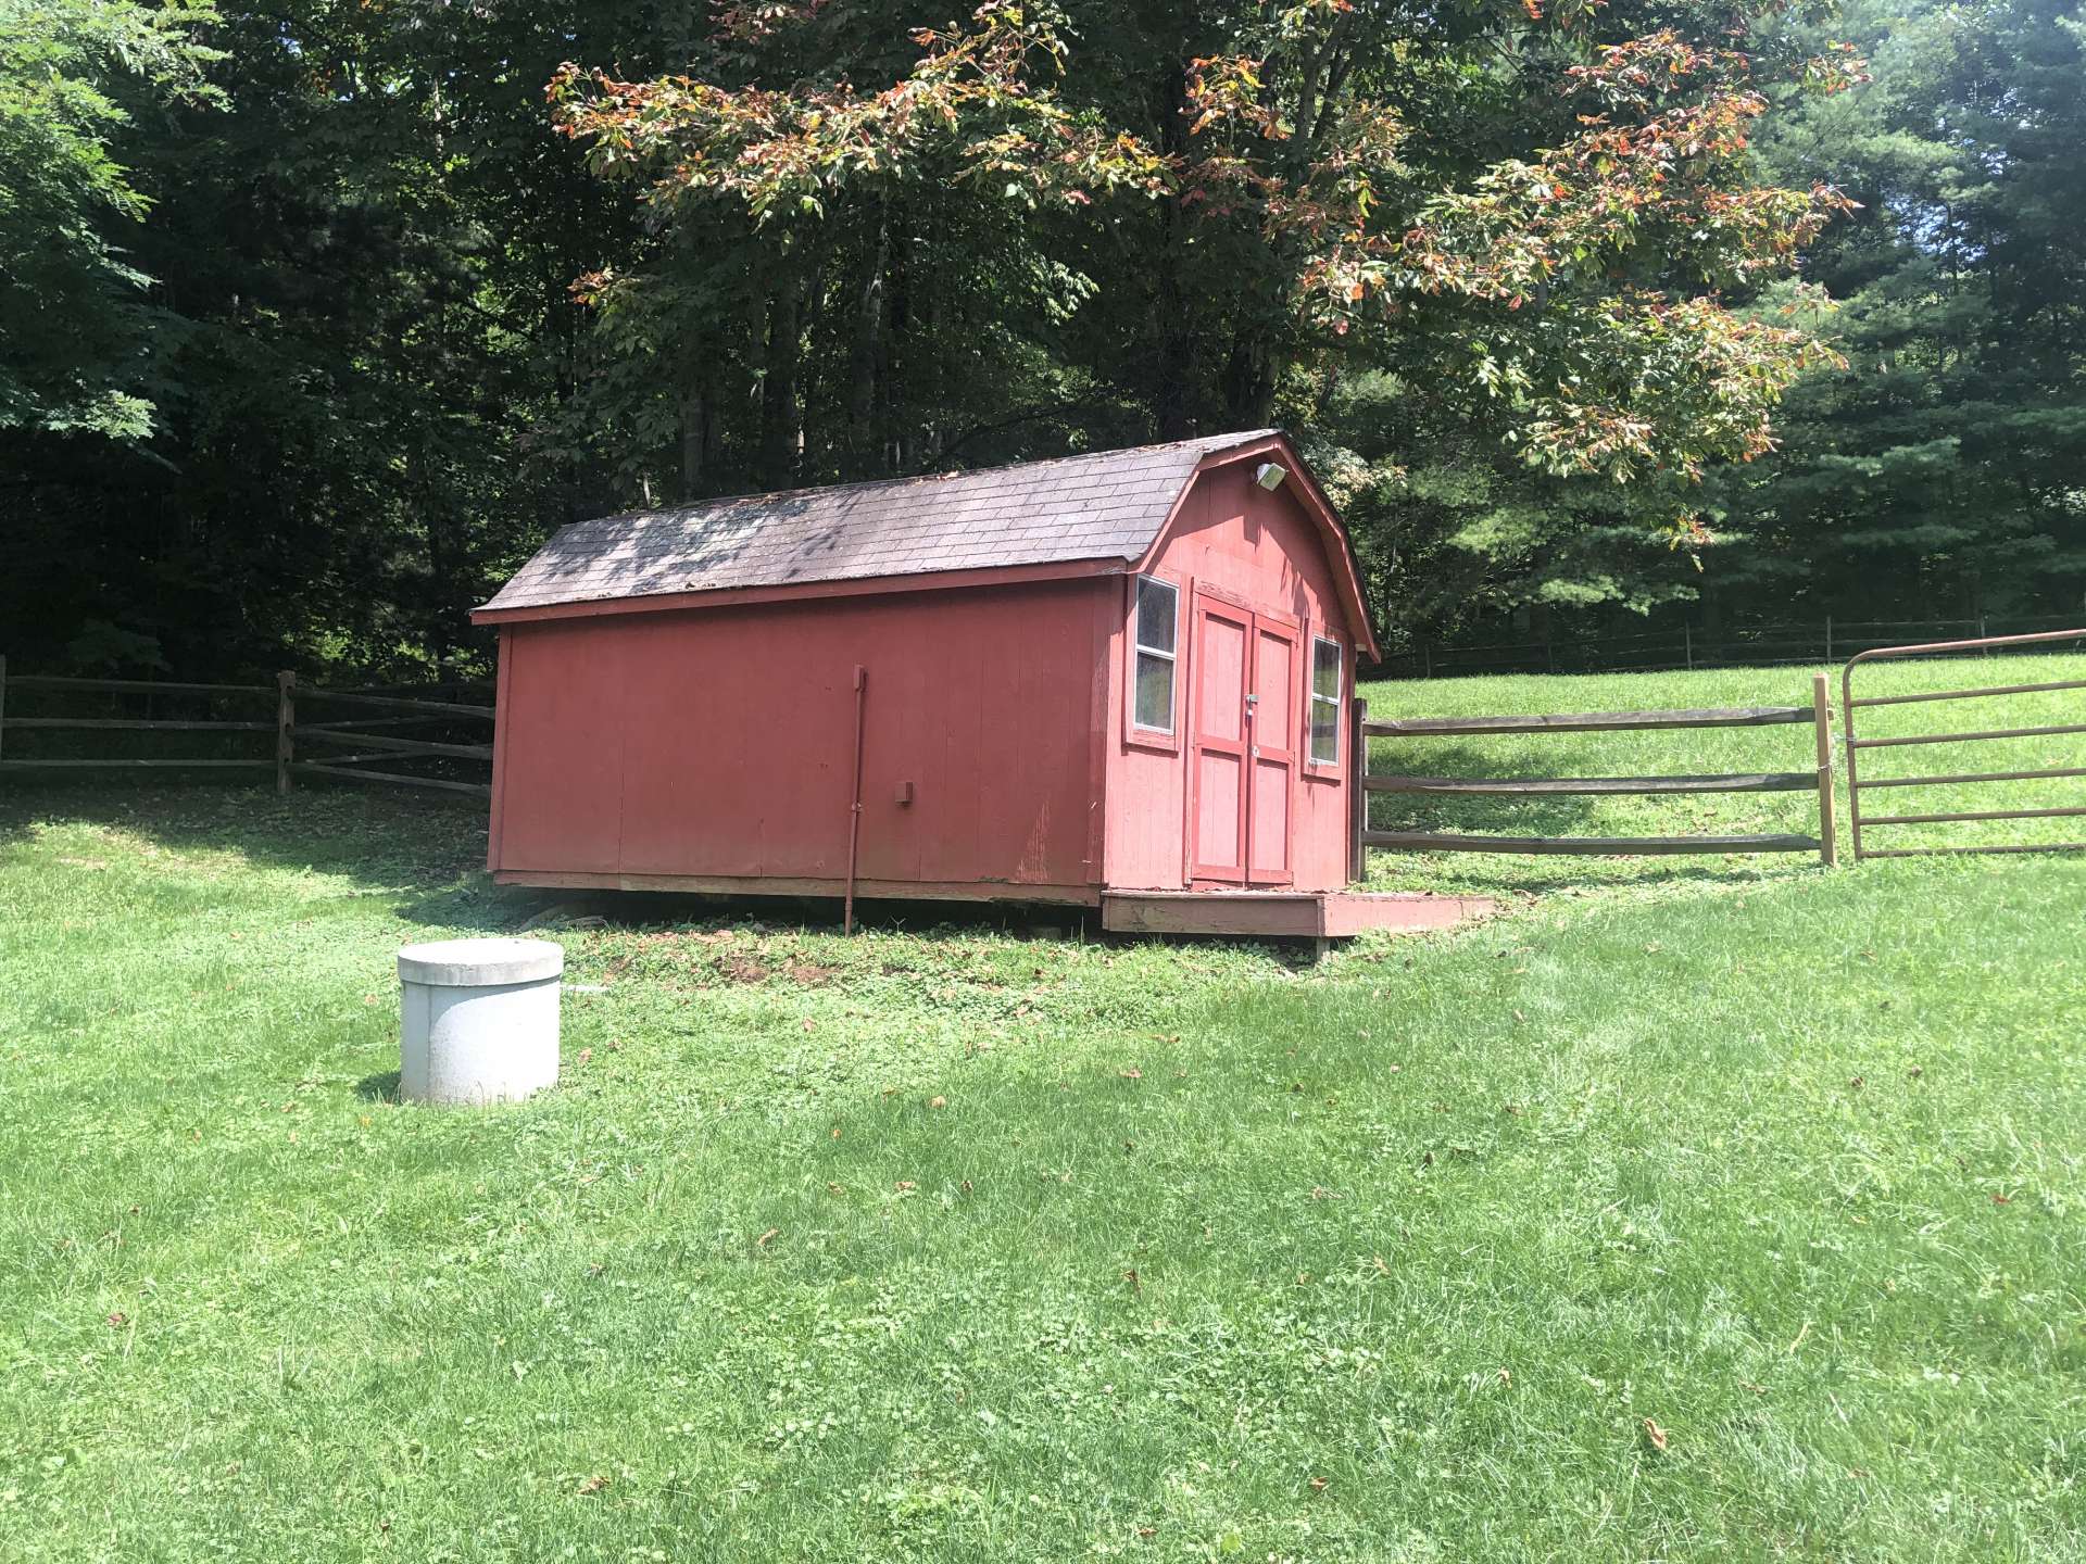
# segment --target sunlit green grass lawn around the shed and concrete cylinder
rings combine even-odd
[[[394,949],[542,905],[480,851],[442,803],[0,792],[0,1558],[2086,1556],[2086,859],[1379,857],[1508,913],[1318,966],[634,901],[557,930],[605,986],[559,1091],[398,1105]]]

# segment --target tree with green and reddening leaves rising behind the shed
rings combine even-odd
[[[688,71],[569,65],[553,102],[597,169],[642,181],[661,229],[701,234],[703,254],[728,236],[730,254],[761,256],[770,294],[811,311],[834,292],[822,269],[864,298],[889,286],[895,213],[901,240],[928,209],[987,244],[995,265],[945,296],[991,307],[991,384],[1049,384],[1010,373],[1026,348],[1074,371],[1060,390],[1141,409],[1164,438],[1279,405],[1333,413],[1343,377],[1377,373],[1416,405],[1408,434],[1458,432],[1458,488],[1489,521],[1454,507],[1441,546],[1498,596],[1642,596],[1638,565],[1665,567],[1656,534],[1696,530],[1694,480],[1765,453],[1775,400],[1825,357],[1800,321],[1723,298],[1786,273],[1846,206],[1825,184],[1758,179],[1750,131],[1771,96],[1859,75],[1838,48],[1736,48],[1765,6],[1675,21],[1669,6],[993,2],[964,27],[912,29],[905,10],[730,13]],[[595,296],[659,311],[676,275],[605,275]],[[868,332],[851,359],[874,365],[870,317],[805,325],[770,298],[763,319],[751,373],[795,425],[763,423],[759,475],[889,463],[889,444],[864,461],[859,442],[820,440],[845,421],[803,419],[799,367],[776,359],[780,340],[843,359]],[[916,423],[918,455],[1005,427],[1005,398],[980,407],[968,382],[939,407],[920,386],[905,396],[916,419],[951,400],[976,411]],[[1396,473],[1421,450],[1439,444],[1356,455]],[[1498,526],[1502,505],[1519,526]],[[1617,530],[1629,544],[1585,569],[1602,551],[1581,544]]]

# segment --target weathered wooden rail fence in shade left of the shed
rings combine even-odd
[[[348,782],[434,788],[442,792],[465,792],[490,799],[490,782],[448,774],[421,776],[415,772],[373,769],[371,761],[396,767],[401,761],[428,759],[455,769],[455,763],[469,761],[484,765],[492,759],[490,742],[457,742],[444,738],[409,738],[401,728],[436,728],[438,732],[457,724],[484,728],[492,722],[490,705],[474,705],[461,699],[438,699],[440,694],[476,694],[484,686],[444,684],[430,686],[436,699],[411,699],[396,692],[332,690],[323,686],[300,686],[294,674],[277,674],[273,684],[194,684],[181,680],[96,680],[56,674],[15,674],[8,676],[6,657],[0,657],[0,774],[38,772],[223,772],[223,769],[271,769],[275,786],[290,790],[296,776],[325,776]],[[225,717],[225,715],[8,715],[10,692],[33,692],[58,701],[98,697],[171,697],[177,703],[229,705],[242,701],[254,705],[273,703],[271,717]],[[298,724],[298,701],[317,703],[321,709],[346,707],[340,715],[325,715],[323,722]],[[117,705],[121,709],[121,705]],[[179,709],[179,707],[177,707]],[[104,707],[106,711],[106,707]],[[398,715],[359,715],[398,713]],[[382,730],[382,732],[380,732]],[[10,744],[10,734],[271,734],[267,753],[261,755],[19,755],[19,744]],[[315,759],[300,757],[300,751],[315,749]],[[344,753],[334,753],[344,751]]]

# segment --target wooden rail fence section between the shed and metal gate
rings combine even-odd
[[[1368,769],[1371,738],[1448,738],[1462,734],[1608,734],[1675,732],[1692,728],[1773,728],[1811,724],[1817,736],[1817,765],[1806,772],[1731,772],[1713,776],[1552,776],[1552,778],[1452,778],[1379,776]],[[1383,847],[1402,853],[1573,853],[1635,857],[1669,853],[1817,853],[1825,863],[1838,857],[1834,840],[1832,701],[1825,676],[1811,682],[1809,707],[1708,707],[1696,711],[1560,711],[1517,717],[1402,717],[1368,719],[1368,703],[1354,703],[1354,842],[1352,878],[1366,878],[1366,853]],[[1744,836],[1471,836],[1439,830],[1373,830],[1368,799],[1379,792],[1404,797],[1673,797],[1700,792],[1817,792],[1819,832]]]

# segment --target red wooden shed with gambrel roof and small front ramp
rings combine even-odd
[[[1339,517],[1275,430],[563,528],[501,628],[490,867],[1343,934]]]

